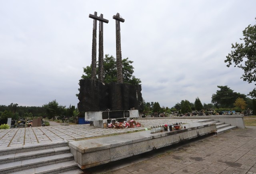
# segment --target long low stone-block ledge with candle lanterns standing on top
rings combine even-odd
[[[111,137],[69,142],[71,153],[81,169],[128,158],[216,131],[215,123],[190,123],[186,129],[151,134],[134,132]]]

